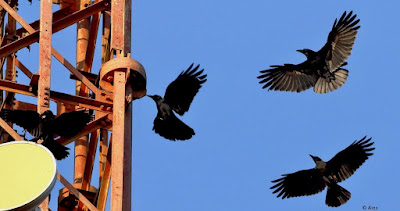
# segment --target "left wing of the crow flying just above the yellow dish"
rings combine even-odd
[[[36,111],[30,110],[5,110],[0,113],[0,117],[6,122],[12,122],[26,129],[30,134],[38,137],[41,133],[41,118]]]

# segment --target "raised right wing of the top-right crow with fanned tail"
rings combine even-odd
[[[356,20],[356,17],[353,11],[347,15],[345,11],[339,21],[335,19],[328,41],[319,51],[319,53],[326,53],[325,60],[331,72],[339,68],[351,54],[357,30],[360,28],[357,26],[360,19]]]

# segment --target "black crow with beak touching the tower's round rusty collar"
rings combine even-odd
[[[197,71],[200,65],[192,69],[193,64],[183,71],[165,91],[164,98],[159,95],[148,95],[157,105],[157,117],[153,130],[160,136],[175,141],[190,139],[195,133],[192,128],[178,119],[174,112],[183,115],[189,110],[194,96],[207,81],[207,75],[201,75],[204,69]]]

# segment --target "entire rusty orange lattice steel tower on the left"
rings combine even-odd
[[[61,174],[64,184],[58,196],[58,210],[105,210],[111,185],[111,210],[131,210],[132,104],[146,94],[146,74],[142,65],[131,59],[131,0],[41,0],[40,19],[27,23],[17,13],[18,0],[0,0],[0,109],[37,110],[57,104],[57,113],[76,109],[95,111],[95,120],[71,139],[56,139],[66,145],[75,142],[74,181]],[[59,10],[53,13],[53,5]],[[5,23],[5,20],[7,21]],[[99,29],[100,21],[102,29]],[[22,27],[17,28],[19,23]],[[52,34],[77,24],[76,65],[52,47]],[[92,73],[96,38],[101,33],[101,69]],[[39,72],[32,73],[18,50],[39,43]],[[100,44],[99,44],[100,45]],[[76,80],[76,94],[52,91],[52,56],[61,62]],[[54,60],[53,60],[54,61]],[[17,82],[16,69],[30,78],[29,84]],[[37,97],[37,105],[18,101],[15,93]],[[0,119],[3,133],[0,143],[22,138],[11,124]],[[111,135],[109,136],[111,131]],[[90,181],[99,147],[99,185]],[[72,156],[72,155],[70,155]],[[72,168],[71,168],[72,169]],[[111,184],[110,184],[111,180]],[[92,184],[93,185],[93,184]],[[48,200],[40,206],[48,210]]]

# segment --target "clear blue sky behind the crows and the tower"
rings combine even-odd
[[[329,160],[367,135],[376,150],[348,180],[352,193],[337,210],[365,206],[394,210],[398,202],[399,149],[397,70],[400,66],[398,1],[133,1],[132,56],[147,71],[148,94],[163,95],[191,63],[208,80],[184,117],[196,135],[185,142],[165,140],[152,131],[157,110],[150,98],[133,106],[134,210],[332,210],[326,192],[278,199],[269,189],[281,174],[314,167],[308,156]],[[54,6],[55,9],[58,9]],[[35,9],[32,9],[35,8]],[[39,1],[20,3],[31,22]],[[300,63],[297,49],[319,50],[335,18],[353,10],[361,19],[349,77],[340,89],[316,94],[261,89],[259,70]],[[76,27],[53,37],[53,46],[75,61]],[[98,42],[99,43],[99,42]],[[38,44],[18,58],[36,72]],[[99,50],[99,49],[98,49]],[[100,67],[96,52],[93,72]],[[52,89],[74,93],[75,82],[55,59]],[[18,81],[28,83],[22,73]],[[17,96],[36,102],[35,98]],[[53,109],[54,108],[53,104]],[[69,145],[72,148],[73,145]],[[72,182],[73,157],[58,161]],[[92,183],[98,186],[97,172]],[[50,207],[55,210],[58,182]]]

